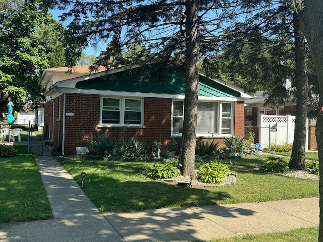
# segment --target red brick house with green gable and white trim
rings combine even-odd
[[[88,66],[45,69],[38,84],[46,86],[45,129],[48,139],[74,155],[80,134],[104,134],[180,148],[184,119],[185,81],[176,74],[145,79],[137,68],[89,73]],[[222,142],[244,135],[242,89],[200,74],[197,138]]]

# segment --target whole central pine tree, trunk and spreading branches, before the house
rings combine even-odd
[[[183,174],[194,174],[199,56],[216,50],[219,36],[223,34],[223,22],[231,16],[227,11],[236,4],[233,1],[196,0],[47,1],[50,8],[56,5],[62,10],[67,5],[70,7],[70,11],[62,15],[62,20],[71,18],[68,25],[71,45],[86,46],[107,41],[108,47],[98,56],[96,65],[108,68],[129,65],[122,53],[131,45],[140,45],[143,51],[149,52],[144,59],[137,55],[133,63],[148,66],[154,63],[154,73],[175,68],[172,64],[179,64],[181,60],[176,56],[185,56],[182,65],[186,91],[180,160]]]

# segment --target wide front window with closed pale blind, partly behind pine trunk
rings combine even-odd
[[[197,104],[197,136],[230,135],[233,131],[232,103],[199,101]],[[173,100],[174,136],[180,136],[183,131],[184,105],[183,101]]]

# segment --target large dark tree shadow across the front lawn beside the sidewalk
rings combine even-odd
[[[80,179],[77,182],[80,184]],[[100,213],[214,205],[219,200],[231,198],[226,192],[179,187],[149,179],[120,181],[96,174],[87,174],[84,184],[84,192]]]

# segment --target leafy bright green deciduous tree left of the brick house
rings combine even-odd
[[[43,100],[37,84],[40,72],[65,63],[60,37],[64,26],[34,2],[25,1],[0,14],[0,27],[0,112],[4,113],[9,97],[16,110],[26,102]]]

